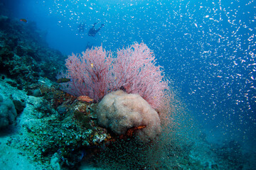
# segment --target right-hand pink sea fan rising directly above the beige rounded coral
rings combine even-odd
[[[161,67],[156,67],[154,53],[143,42],[118,50],[113,71],[115,86],[124,87],[129,94],[139,94],[153,108],[160,105],[168,84]]]

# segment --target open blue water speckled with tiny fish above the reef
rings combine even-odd
[[[154,50],[176,95],[210,142],[256,149],[255,1],[4,1],[35,21],[65,55],[90,45],[115,51],[132,42]],[[92,24],[105,26],[95,37]],[[85,23],[85,32],[78,24]],[[24,23],[26,24],[26,23]]]

